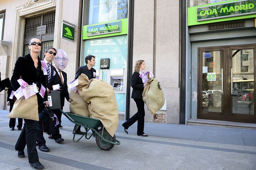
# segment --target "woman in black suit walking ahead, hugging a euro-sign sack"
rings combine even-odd
[[[140,74],[142,73],[142,70],[145,69],[145,67],[146,64],[144,60],[136,61],[136,64],[134,66],[134,73],[132,74],[132,99],[137,105],[138,112],[133,115],[129,120],[124,122],[122,125],[124,127],[125,133],[128,134],[127,129],[138,120],[137,135],[147,137],[148,135],[144,133],[145,110],[144,102],[142,99],[142,92],[146,83],[144,84],[142,82],[142,79],[140,78]]]

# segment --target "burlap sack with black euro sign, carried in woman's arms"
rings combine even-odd
[[[164,106],[164,92],[157,79],[148,78],[148,85],[144,87],[142,99],[152,115]]]

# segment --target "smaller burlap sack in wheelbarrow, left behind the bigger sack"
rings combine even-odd
[[[72,89],[69,92],[69,98],[72,102],[69,105],[69,110],[73,114],[77,114],[84,117],[90,117],[90,112],[88,110],[89,103],[86,103],[78,92],[75,93],[76,89]]]

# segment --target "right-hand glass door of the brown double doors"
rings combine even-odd
[[[255,116],[255,46],[229,48],[230,113],[228,121],[256,123]]]

